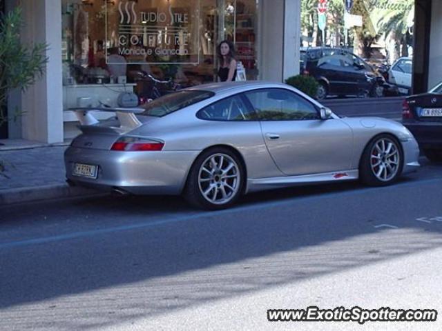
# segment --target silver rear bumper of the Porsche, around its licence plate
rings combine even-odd
[[[69,147],[66,178],[77,185],[133,194],[180,194],[198,151],[119,152]],[[97,165],[97,179],[73,174],[74,164]]]

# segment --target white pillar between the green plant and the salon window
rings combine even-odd
[[[22,96],[23,139],[57,143],[63,141],[63,92],[61,73],[61,1],[26,0],[23,43],[46,42],[49,63],[45,75]]]

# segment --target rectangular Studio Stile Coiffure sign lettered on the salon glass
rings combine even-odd
[[[199,63],[200,0],[122,0],[116,10],[106,1],[105,6],[106,44],[128,62]],[[106,58],[108,64],[118,64],[112,61]]]

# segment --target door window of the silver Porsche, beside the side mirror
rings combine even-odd
[[[294,121],[319,119],[312,103],[295,92],[282,88],[254,90],[245,93],[261,121]]]

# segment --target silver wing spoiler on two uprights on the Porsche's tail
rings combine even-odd
[[[90,111],[98,112],[115,112],[117,114],[120,128],[122,129],[135,129],[142,125],[142,123],[137,119],[135,114],[141,114],[145,110],[143,108],[111,108],[111,107],[76,107],[69,108],[68,110],[73,110],[77,119],[80,121],[81,126],[94,126],[99,123],[99,121],[90,114]]]

